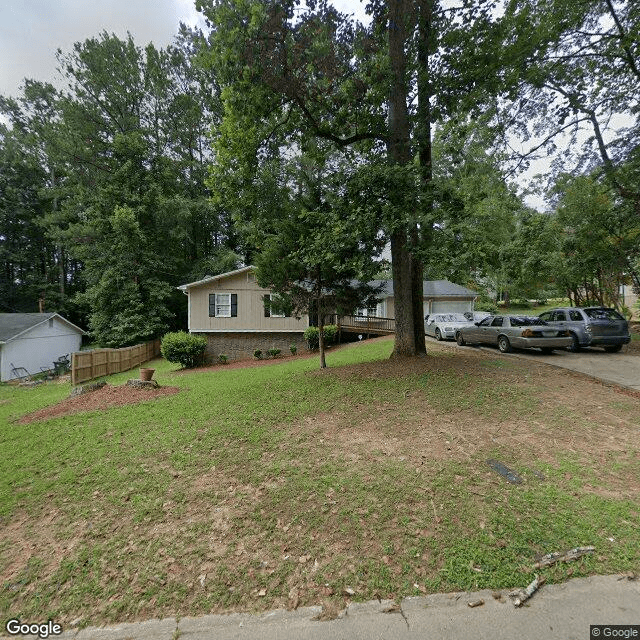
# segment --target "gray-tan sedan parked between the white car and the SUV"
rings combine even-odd
[[[496,345],[502,353],[508,353],[513,347],[536,348],[543,353],[551,353],[572,343],[567,331],[551,327],[535,316],[489,316],[469,327],[460,328],[456,332],[456,341],[460,346]]]

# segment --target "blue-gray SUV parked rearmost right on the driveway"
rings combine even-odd
[[[545,311],[539,318],[569,332],[573,338],[572,345],[567,347],[569,351],[579,351],[581,347],[604,347],[605,351],[615,352],[631,341],[629,323],[615,309],[565,307]]]

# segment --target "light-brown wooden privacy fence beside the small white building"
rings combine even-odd
[[[129,371],[160,355],[160,339],[122,349],[76,351],[71,356],[71,384]]]

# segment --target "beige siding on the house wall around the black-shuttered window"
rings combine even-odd
[[[210,318],[209,295],[213,293],[235,293],[238,296],[236,318]],[[248,273],[239,273],[214,282],[189,288],[190,324],[197,331],[304,331],[308,326],[307,316],[296,318],[265,318],[263,296],[268,289],[261,289]]]

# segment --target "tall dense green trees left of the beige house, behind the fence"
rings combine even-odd
[[[204,182],[219,102],[200,47],[185,28],[166,49],[102,33],[58,52],[63,91],[0,99],[2,311],[43,299],[124,346],[184,326],[177,285],[238,266]]]

